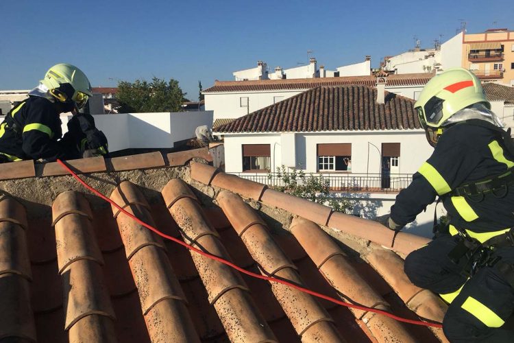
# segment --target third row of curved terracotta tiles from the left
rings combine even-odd
[[[143,222],[155,226],[149,206],[136,185],[121,182],[110,198]],[[151,340],[165,341],[171,337],[175,338],[174,342],[199,342],[186,310],[184,293],[171,268],[162,240],[124,213],[117,213],[114,207],[113,213],[117,214],[125,255],[138,289]]]

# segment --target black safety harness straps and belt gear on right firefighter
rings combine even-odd
[[[505,131],[498,126],[480,119],[470,119],[463,121],[474,126],[488,128],[498,132],[503,139],[504,146],[511,155],[514,156],[514,141],[511,138],[511,129]],[[506,196],[509,187],[514,185],[514,168],[509,169],[506,173],[484,178],[482,180],[467,182],[456,187],[446,196],[463,196],[471,202],[481,202],[486,194],[493,194],[496,198]],[[439,200],[437,201],[439,202]],[[436,205],[437,206],[437,205]],[[437,219],[435,219],[435,230],[444,231],[437,227]],[[480,243],[474,237],[471,237],[466,230],[455,228],[458,231],[456,235],[457,245],[448,253],[450,260],[461,268],[461,274],[471,277],[480,268],[490,267],[498,270],[504,279],[514,287],[514,265],[502,261],[501,257],[495,255],[494,252],[498,248],[514,248],[514,228],[496,235],[487,241]]]

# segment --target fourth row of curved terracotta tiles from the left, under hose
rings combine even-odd
[[[187,189],[182,180],[175,179],[168,182],[162,191],[165,202],[173,203],[169,211],[182,229],[182,236],[197,248],[230,259],[215,230],[204,220],[197,200],[193,199],[193,193],[189,191],[191,196],[183,196]],[[174,201],[177,198],[179,200]],[[206,287],[209,303],[217,310],[230,340],[274,341],[271,329],[249,297],[247,285],[241,276],[217,261],[194,252],[191,252],[191,256]]]

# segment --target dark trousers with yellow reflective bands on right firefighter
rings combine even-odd
[[[443,320],[450,342],[514,342],[514,331],[503,327],[514,311],[513,287],[494,267],[464,276],[462,265],[448,257],[456,245],[456,237],[440,235],[406,257],[405,273],[450,303]],[[514,263],[514,248],[498,248],[494,255]]]

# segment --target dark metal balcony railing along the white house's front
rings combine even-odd
[[[284,187],[284,176],[293,177],[293,174],[249,174],[230,173],[240,178],[259,182],[269,187]],[[382,176],[380,174],[328,174],[313,173],[304,174],[305,177],[295,174],[295,182],[302,185],[309,176],[323,178],[328,183],[330,191],[337,193],[397,193],[411,184],[411,174],[391,174]],[[292,182],[289,182],[291,184]]]

